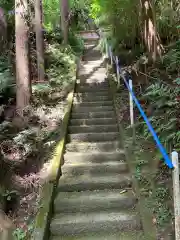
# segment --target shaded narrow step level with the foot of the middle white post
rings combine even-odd
[[[71,126],[117,124],[116,118],[71,119]]]

